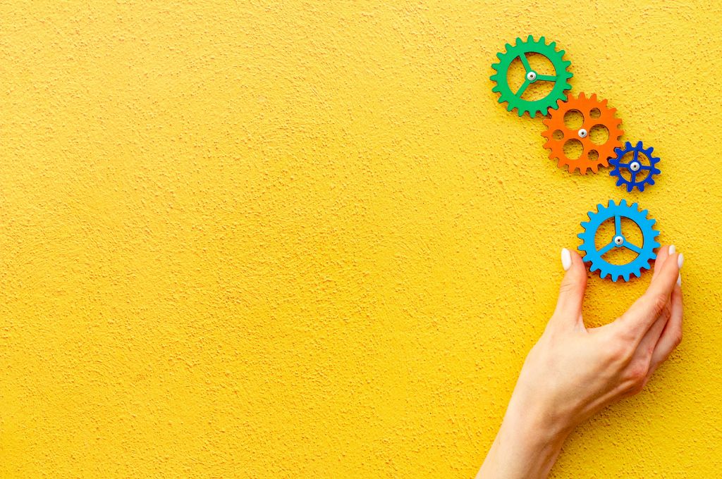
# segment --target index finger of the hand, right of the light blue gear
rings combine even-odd
[[[620,325],[635,339],[640,340],[667,307],[679,276],[678,261],[678,253],[669,255],[645,294],[619,318]]]

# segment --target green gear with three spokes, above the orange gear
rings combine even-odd
[[[572,63],[564,60],[564,50],[556,50],[555,43],[552,42],[547,45],[544,37],[539,38],[538,41],[534,41],[534,37],[529,35],[526,42],[523,42],[521,38],[516,39],[516,45],[506,44],[506,53],[497,53],[499,57],[499,63],[494,63],[492,69],[497,72],[491,76],[492,82],[496,83],[496,86],[492,88],[492,92],[499,93],[499,102],[508,102],[507,110],[511,111],[514,108],[517,109],[519,116],[522,116],[524,112],[529,113],[531,118],[536,116],[536,113],[546,115],[549,108],[556,108],[557,101],[563,100],[566,97],[565,91],[571,89],[571,85],[568,80],[572,77],[572,74],[567,71],[567,67]],[[547,57],[554,66],[554,75],[540,75],[536,71],[531,69],[529,60],[526,58],[527,53],[539,53]],[[509,66],[516,59],[521,60],[524,70],[526,71],[526,80],[524,80],[521,87],[516,93],[512,92],[508,82]],[[554,82],[552,91],[549,92],[544,98],[539,100],[523,100],[521,95],[534,82]]]

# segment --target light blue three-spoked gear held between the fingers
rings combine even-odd
[[[581,224],[584,232],[577,235],[582,240],[579,250],[586,252],[582,260],[591,263],[589,271],[593,273],[599,270],[601,278],[611,275],[612,281],[617,281],[620,277],[625,278],[625,281],[630,281],[632,274],[638,278],[642,276],[642,270],[649,269],[649,262],[657,258],[655,249],[660,246],[656,240],[659,232],[653,229],[656,219],[648,219],[647,214],[647,210],[639,211],[637,203],[628,206],[627,200],[620,201],[618,205],[609,200],[609,205],[606,207],[601,203],[597,205],[596,213],[589,211],[589,221],[583,221]],[[612,218],[614,218],[614,237],[608,245],[597,250],[594,241],[596,231],[604,221]],[[641,247],[632,245],[622,234],[622,218],[631,219],[639,227],[642,232],[643,244]],[[625,247],[627,250],[637,253],[637,258],[625,265],[613,265],[604,260],[602,256],[614,247]]]

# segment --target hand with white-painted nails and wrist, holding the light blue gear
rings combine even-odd
[[[643,389],[682,340],[682,262],[674,246],[662,247],[645,294],[614,322],[585,328],[586,268],[562,250],[557,307],[526,357],[478,478],[545,478],[575,426]]]

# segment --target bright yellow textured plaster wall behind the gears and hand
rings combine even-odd
[[[719,2],[0,6],[0,476],[474,475],[596,203],[684,252],[684,341],[554,478],[722,467]],[[627,195],[547,159],[495,53],[661,157]],[[648,284],[591,277],[586,318]]]

